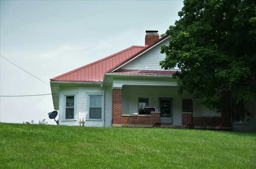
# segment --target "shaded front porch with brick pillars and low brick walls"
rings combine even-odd
[[[216,113],[198,100],[184,94],[176,95],[177,86],[123,85],[113,87],[113,127],[231,129],[230,111]],[[230,93],[230,92],[228,92]],[[224,94],[224,93],[223,93]],[[227,93],[225,93],[227,94]],[[226,96],[226,95],[225,95]],[[229,99],[229,98],[228,98]],[[150,114],[143,114],[145,107],[154,107]]]

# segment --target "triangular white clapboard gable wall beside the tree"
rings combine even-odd
[[[169,45],[169,38],[164,40],[154,49],[148,51],[147,53],[143,54],[142,56],[134,59],[121,69],[125,70],[155,70],[155,71],[163,71],[159,62],[164,60],[165,54],[161,54],[161,46],[162,45]]]

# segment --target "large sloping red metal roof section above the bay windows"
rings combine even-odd
[[[131,46],[111,56],[100,59],[73,71],[50,79],[51,81],[100,82],[104,73],[141,51],[146,46]]]

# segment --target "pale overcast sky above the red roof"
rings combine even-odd
[[[165,33],[182,1],[0,1],[0,54],[50,84],[50,78],[145,45],[145,31]],[[0,57],[0,95],[50,94],[49,85]],[[0,97],[0,121],[48,118],[51,95]]]

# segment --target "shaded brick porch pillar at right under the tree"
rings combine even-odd
[[[221,97],[226,102],[226,110],[221,112],[221,126],[231,127],[231,92],[221,92]]]

